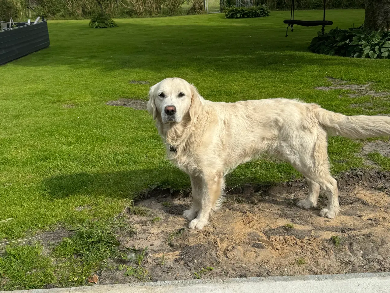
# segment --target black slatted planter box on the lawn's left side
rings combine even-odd
[[[46,21],[0,31],[0,64],[7,63],[50,45]]]

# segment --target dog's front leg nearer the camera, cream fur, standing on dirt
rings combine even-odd
[[[190,229],[203,229],[207,225],[211,210],[215,208],[215,204],[220,198],[221,187],[223,186],[223,177],[218,175],[211,178],[202,179],[201,194],[200,194],[200,209],[198,216],[190,222]],[[194,198],[195,203],[195,198]]]

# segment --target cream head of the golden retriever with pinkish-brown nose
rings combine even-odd
[[[203,98],[192,84],[174,77],[150,88],[147,110],[154,120],[159,119],[162,123],[180,123],[187,115],[196,121],[202,110],[202,101]]]

